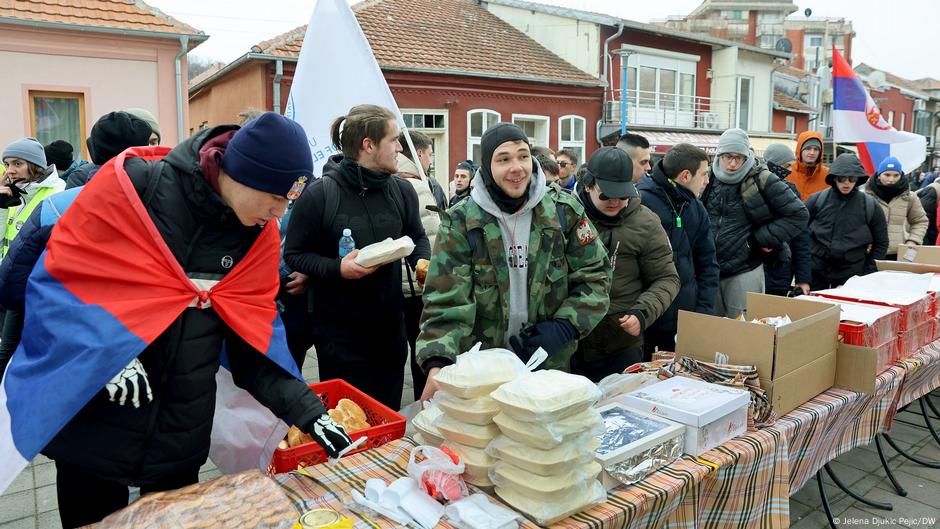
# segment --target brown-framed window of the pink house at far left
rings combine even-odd
[[[46,145],[55,140],[65,140],[72,144],[76,156],[87,154],[84,94],[30,90],[29,124],[39,143]]]

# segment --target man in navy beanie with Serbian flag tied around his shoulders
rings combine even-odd
[[[0,384],[0,491],[42,451],[76,527],[126,506],[128,486],[195,483],[220,364],[329,455],[349,446],[299,378],[274,301],[275,219],[311,176],[303,129],[274,113],[101,168],[29,278]]]

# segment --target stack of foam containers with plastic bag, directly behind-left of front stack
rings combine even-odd
[[[506,365],[501,365],[502,362]],[[493,417],[499,412],[490,396],[496,388],[519,374],[518,358],[492,355],[485,362],[458,362],[438,372],[440,390],[435,402],[441,410],[434,426],[444,446],[464,463],[464,481],[492,487],[489,473],[495,459],[484,449],[498,434]]]

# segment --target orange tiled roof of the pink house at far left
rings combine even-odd
[[[140,0],[5,0],[0,1],[0,17],[85,27],[205,35]]]

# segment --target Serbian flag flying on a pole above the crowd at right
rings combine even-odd
[[[832,139],[836,143],[856,143],[858,158],[869,174],[874,174],[889,156],[897,158],[905,171],[924,162],[927,138],[891,126],[835,46],[832,90]]]

